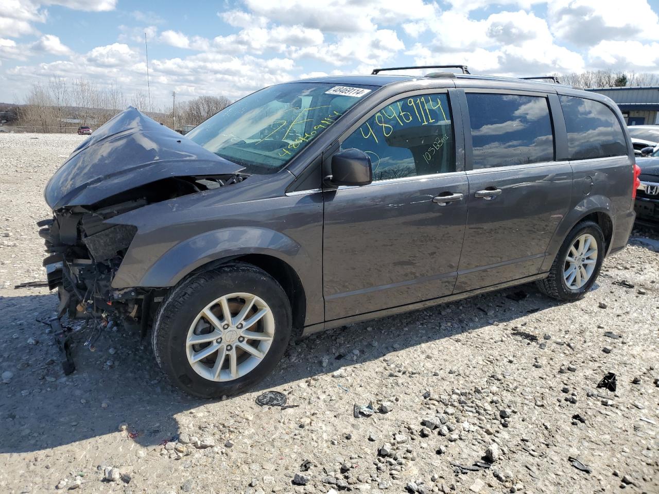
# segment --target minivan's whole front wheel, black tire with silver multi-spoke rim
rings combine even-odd
[[[244,298],[228,298],[231,294],[244,295]],[[270,312],[264,312],[266,315],[254,325],[237,329],[242,325],[235,321],[239,319],[242,308],[248,305],[250,296],[253,297],[253,305],[244,316],[244,321],[249,322],[250,317],[257,316],[264,308]],[[217,302],[221,298],[227,301],[225,306],[221,300]],[[244,301],[242,307],[241,300]],[[210,308],[209,304],[214,301],[215,305]],[[233,304],[238,308],[232,308]],[[224,327],[229,324],[223,307],[229,308],[231,314],[231,327],[228,329]],[[211,311],[213,314],[208,315]],[[156,314],[152,346],[158,365],[175,386],[195,397],[219,398],[245,391],[275,368],[291,339],[291,321],[291,304],[273,277],[250,264],[223,265],[189,277],[170,290]],[[194,337],[212,335],[221,337],[196,345],[191,343]],[[241,335],[252,335],[256,339],[244,339]],[[213,354],[192,362],[202,350],[212,350],[211,346],[215,348],[218,345],[219,350]],[[246,345],[256,345],[253,348],[264,356],[257,358],[252,355],[253,350],[243,350]],[[229,350],[233,350],[233,354]],[[220,355],[223,363],[217,365]],[[232,372],[235,374],[232,375]]]

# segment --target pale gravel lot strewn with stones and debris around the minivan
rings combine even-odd
[[[656,233],[635,231],[579,302],[525,285],[343,327],[207,402],[124,329],[95,351],[76,335],[63,375],[37,321],[56,296],[13,290],[44,278],[43,186],[83,139],[0,134],[1,493],[659,493]],[[615,393],[596,389],[607,372]],[[261,408],[268,390],[299,406]]]

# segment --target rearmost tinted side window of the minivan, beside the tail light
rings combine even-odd
[[[627,142],[614,112],[603,103],[560,96],[569,159],[604,158],[627,154]]]

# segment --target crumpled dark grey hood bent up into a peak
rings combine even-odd
[[[44,196],[52,209],[88,206],[162,178],[242,169],[129,107],[71,153]]]

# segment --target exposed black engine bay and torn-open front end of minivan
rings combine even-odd
[[[129,325],[149,323],[150,310],[158,289],[123,288],[111,282],[136,234],[132,225],[113,225],[111,218],[188,194],[196,194],[238,182],[246,175],[169,177],[111,196],[93,206],[62,207],[53,218],[39,221],[39,234],[45,240],[43,260],[51,290],[57,288],[57,316],[87,319],[94,327],[104,327],[110,319]],[[159,289],[164,292],[163,289]]]

